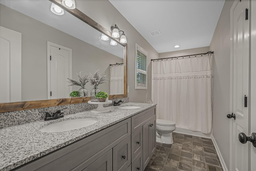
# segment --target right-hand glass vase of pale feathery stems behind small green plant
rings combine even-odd
[[[96,99],[95,95],[98,92],[100,92],[100,89],[98,89],[98,85],[107,82],[108,79],[106,79],[106,76],[107,75],[104,75],[104,73],[102,74],[102,76],[100,76],[99,70],[97,70],[94,74],[90,73],[90,76],[89,76],[90,85],[94,87],[91,90],[91,101],[95,100]]]

